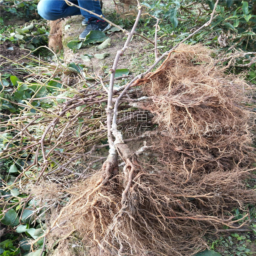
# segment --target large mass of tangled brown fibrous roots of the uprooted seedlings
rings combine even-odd
[[[207,247],[206,233],[248,221],[246,205],[256,199],[245,185],[255,169],[251,89],[215,67],[211,53],[181,45],[134,83],[143,84],[145,96],[127,101],[154,115],[157,132],[136,154],[113,122],[124,167],[108,137],[108,159],[70,188],[71,199],[51,228],[72,223],[84,244],[95,244],[102,255],[192,255]],[[157,157],[139,158],[145,151]],[[236,208],[243,214],[239,220],[232,214]]]

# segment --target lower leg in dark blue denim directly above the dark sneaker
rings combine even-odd
[[[99,15],[102,15],[101,8],[100,8],[100,0],[78,0],[78,5],[80,7],[83,7],[84,9],[87,9],[88,11],[92,11]],[[102,20],[99,17],[97,17],[89,12],[86,12],[83,10],[80,10],[80,11],[81,11],[82,15],[84,16],[84,18],[87,18],[88,20],[90,18],[96,18],[97,20]]]

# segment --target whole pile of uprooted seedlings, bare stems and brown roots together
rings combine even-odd
[[[210,20],[181,43],[210,25],[218,2]],[[50,207],[52,197],[53,201],[60,197],[62,202],[65,200],[64,206],[62,204],[62,208],[58,208],[46,223],[47,231],[31,244],[44,237],[45,245],[45,237],[49,234],[60,236],[61,228],[62,234],[66,231],[63,239],[76,230],[84,245],[95,245],[101,255],[192,255],[207,247],[204,241],[206,233],[216,233],[223,226],[239,228],[250,219],[246,205],[256,199],[255,191],[246,188],[245,183],[255,170],[252,165],[255,159],[251,147],[250,87],[235,76],[225,75],[216,67],[211,51],[200,45],[179,43],[180,47],[177,44],[159,57],[159,19],[155,17],[155,63],[144,73],[131,78],[128,84],[120,84],[118,89],[114,89],[116,80],[124,78],[115,77],[120,56],[124,55],[132,36],[138,35],[135,31],[143,8],[139,0],[137,4],[137,18],[130,32],[123,31],[127,39],[109,69],[110,78],[94,77],[97,82],[91,84],[82,70],[75,68],[79,75],[73,74],[73,83],[83,84],[83,89],[70,88],[68,76],[64,80],[68,93],[61,96],[60,102],[54,96],[57,103],[49,108],[49,112],[43,108],[36,109],[40,115],[33,119],[30,117],[29,122],[25,112],[31,102],[44,98],[35,98],[34,94],[29,106],[19,104],[24,107],[19,118],[24,114],[27,120],[22,131],[37,122],[44,125],[36,138],[30,136],[30,128],[26,131],[26,137],[30,138],[28,146],[19,148],[15,144],[10,149],[8,143],[4,151],[3,158],[21,154],[22,150],[30,150],[29,154],[34,157],[26,169],[33,168],[29,175],[35,173],[35,178],[26,177],[23,169],[14,181],[23,187],[27,184],[24,182],[26,179],[30,179],[31,184],[35,183],[27,190],[31,195],[22,205],[22,212],[32,195],[42,199],[42,207],[45,203]],[[149,73],[162,60],[162,65]],[[44,74],[40,75],[40,89],[54,80],[59,69],[57,63],[53,75],[46,80]],[[123,121],[117,118],[118,111],[128,111],[130,107],[151,112],[157,128],[151,133],[151,138],[145,139],[146,144],[134,152],[117,129],[117,125],[123,125]],[[96,114],[92,111],[95,108],[106,110],[106,115]],[[78,138],[73,133],[69,134],[76,123],[81,123],[79,129],[84,128],[81,133],[77,129]],[[93,129],[90,129],[92,124]],[[16,140],[18,135],[20,132],[12,139]],[[109,151],[108,156],[100,157],[106,159],[101,168],[89,173],[89,164],[81,172],[69,169],[72,162],[100,148],[98,144],[106,136]],[[22,140],[25,139],[23,137]],[[134,148],[134,140],[132,143]],[[41,154],[40,159],[38,156]],[[71,173],[67,181],[63,177],[65,172]],[[72,180],[72,175],[78,175],[79,179]],[[54,184],[51,189],[51,182],[44,181],[47,179],[60,185]],[[51,193],[44,196],[46,188]],[[70,197],[66,198],[67,195]],[[54,208],[54,203],[51,207]],[[233,215],[236,208],[243,216],[240,219]],[[44,246],[41,254],[43,252]],[[96,254],[93,250],[90,252],[91,255]]]

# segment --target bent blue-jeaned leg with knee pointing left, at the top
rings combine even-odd
[[[71,2],[78,4],[77,1]],[[81,15],[79,8],[69,6],[64,0],[40,0],[37,10],[39,15],[46,20],[58,20],[67,16]]]

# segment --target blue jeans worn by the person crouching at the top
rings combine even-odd
[[[84,9],[95,12],[99,15],[102,15],[100,9],[99,0],[69,0],[73,4],[79,5]],[[41,17],[46,20],[58,20],[60,18],[65,18],[67,16],[73,15],[83,15],[84,18],[100,18],[96,17],[89,12],[83,11],[75,6],[69,6],[64,0],[40,0],[37,5],[38,13]]]

